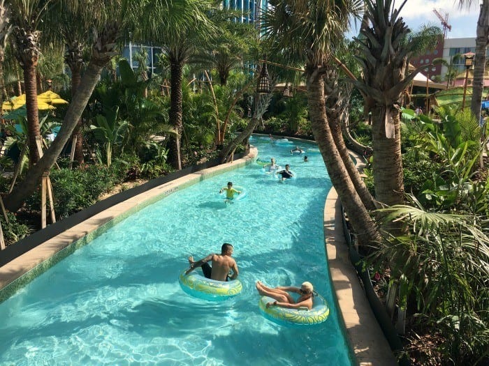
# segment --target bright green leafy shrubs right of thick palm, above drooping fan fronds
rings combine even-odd
[[[437,112],[442,123],[423,115],[404,126],[411,145],[404,148],[404,183],[428,208],[455,210],[472,196],[481,130],[471,114]]]

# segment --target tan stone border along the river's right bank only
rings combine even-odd
[[[356,158],[357,168],[363,169],[363,158]],[[324,238],[330,280],[336,293],[340,322],[355,353],[358,365],[397,365],[397,360],[370,308],[363,287],[350,262],[344,237],[341,201],[331,188],[324,206]]]

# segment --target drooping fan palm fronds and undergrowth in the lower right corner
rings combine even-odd
[[[489,238],[474,216],[428,212],[411,199],[414,206],[381,210],[406,234],[386,238],[370,259],[388,259],[393,276],[409,282],[411,311],[444,334],[446,359],[472,365],[489,346]]]

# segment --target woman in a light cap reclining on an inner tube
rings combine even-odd
[[[267,303],[267,307],[279,306],[287,307],[289,309],[307,307],[307,309],[312,310],[312,299],[314,297],[312,291],[314,288],[312,287],[311,282],[303,282],[300,285],[300,288],[293,286],[279,286],[272,288],[265,286],[265,284],[260,281],[256,281],[256,289],[261,296],[268,296],[275,299],[275,301]],[[300,298],[295,301],[289,292],[299,293]]]

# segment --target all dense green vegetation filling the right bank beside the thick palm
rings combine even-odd
[[[407,314],[407,351],[416,364],[473,365],[487,359],[489,345],[489,180],[480,165],[482,130],[467,111],[437,112],[440,121],[422,115],[403,125],[407,205],[383,210],[384,220],[402,222],[403,234],[375,245],[369,262],[386,302],[389,282],[403,289],[392,316]],[[359,125],[358,135],[365,129]],[[372,189],[372,172],[365,173]]]

